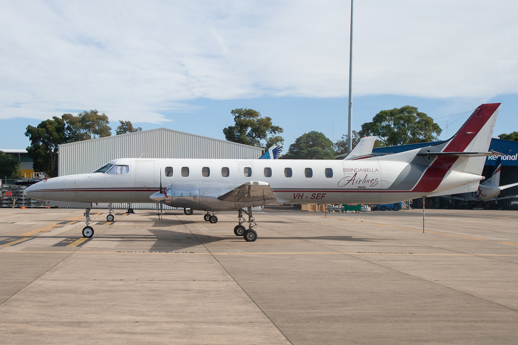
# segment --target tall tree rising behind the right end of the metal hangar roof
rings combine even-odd
[[[223,128],[227,141],[266,148],[284,142],[282,137],[275,135],[282,133],[283,129],[272,125],[271,117],[261,117],[260,112],[248,108],[234,109],[231,114],[235,125]],[[262,141],[265,141],[264,145]]]

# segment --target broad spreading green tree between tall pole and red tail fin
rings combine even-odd
[[[418,108],[404,106],[382,110],[372,122],[362,125],[362,137],[376,136],[386,146],[425,143],[439,139],[442,129],[434,119],[418,111]]]

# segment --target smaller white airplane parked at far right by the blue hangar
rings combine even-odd
[[[493,201],[518,197],[516,195],[510,195],[505,196],[503,198],[498,198],[498,195],[502,192],[502,190],[518,186],[518,182],[511,183],[505,186],[499,186],[501,168],[501,158],[498,157],[495,164],[495,171],[493,172],[490,178],[479,184],[477,191],[470,193],[454,194],[444,197],[464,201]]]

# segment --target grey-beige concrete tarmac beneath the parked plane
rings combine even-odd
[[[511,344],[518,212],[0,209],[3,344]]]

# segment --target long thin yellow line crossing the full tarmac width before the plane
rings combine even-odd
[[[357,253],[357,252],[275,252],[275,253],[157,253],[157,252],[117,252],[117,251],[2,251],[2,253],[83,253],[83,254],[196,254],[196,255],[293,255],[293,254],[353,254],[353,255],[417,255],[446,257],[518,257],[518,254],[425,254],[425,253]]]

